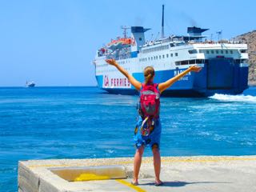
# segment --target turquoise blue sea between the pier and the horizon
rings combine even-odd
[[[20,160],[132,157],[137,101],[96,87],[0,88],[0,191],[17,191]],[[161,118],[162,156],[256,154],[256,87],[162,98]]]

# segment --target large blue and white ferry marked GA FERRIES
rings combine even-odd
[[[241,42],[207,40],[202,35],[208,29],[187,28],[187,35],[164,35],[162,7],[162,37],[146,41],[143,26],[131,26],[131,34],[112,40],[97,50],[94,58],[98,87],[112,94],[137,94],[134,86],[114,66],[105,62],[114,58],[138,81],[144,81],[143,70],[153,66],[154,82],[165,82],[192,65],[201,66],[199,73],[189,73],[165,90],[167,96],[202,96],[241,94],[248,87],[247,45]]]

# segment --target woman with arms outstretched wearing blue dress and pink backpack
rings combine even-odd
[[[134,131],[134,141],[137,150],[134,155],[134,180],[132,184],[134,186],[138,185],[138,173],[142,163],[142,154],[145,146],[150,146],[154,156],[155,186],[161,186],[163,183],[160,180],[161,156],[159,151],[162,131],[159,119],[160,94],[189,72],[199,72],[201,68],[198,66],[190,66],[190,68],[178,74],[174,78],[170,78],[166,82],[156,84],[154,83],[154,68],[151,66],[147,66],[144,69],[145,82],[142,83],[138,82],[122,66],[119,66],[118,62],[114,59],[106,59],[106,62],[115,66],[123,75],[126,76],[126,78],[128,78],[129,82],[136,88],[136,90],[140,92],[140,105],[138,107],[140,117]]]

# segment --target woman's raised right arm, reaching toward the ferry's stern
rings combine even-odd
[[[176,75],[174,78],[170,78],[166,82],[159,83],[158,89],[159,89],[160,93],[162,93],[162,91],[164,91],[167,88],[169,88],[170,86],[172,86],[174,84],[174,82],[177,82],[178,79],[182,78],[183,76],[188,74],[190,71],[199,72],[201,69],[202,68],[198,67],[198,66],[190,66],[190,68],[188,68],[187,70],[184,70],[182,73]]]

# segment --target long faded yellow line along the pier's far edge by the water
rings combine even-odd
[[[223,162],[223,161],[256,161],[256,158],[236,158],[236,157],[212,157],[212,158],[162,158],[162,162]],[[100,165],[95,165],[92,163],[70,163],[62,165],[45,164],[45,165],[31,165],[29,168],[38,167],[70,167],[70,166],[109,166],[109,165],[124,165],[132,164],[133,161],[118,161],[118,162],[102,162]],[[151,159],[142,161],[142,163],[152,163]]]

